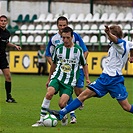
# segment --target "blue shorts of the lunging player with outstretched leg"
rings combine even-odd
[[[102,73],[96,81],[88,85],[88,88],[96,92],[96,97],[103,97],[109,93],[112,98],[121,101],[125,100],[128,96],[123,76],[111,77]]]

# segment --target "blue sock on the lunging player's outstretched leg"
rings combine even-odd
[[[60,114],[65,116],[67,113],[77,109],[78,107],[80,107],[82,105],[82,102],[79,101],[78,98],[74,99],[69,105],[67,105],[65,108],[63,108],[62,110],[60,110]]]

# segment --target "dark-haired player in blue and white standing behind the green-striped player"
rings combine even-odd
[[[56,46],[63,43],[61,33],[62,33],[62,30],[67,26],[68,26],[67,18],[64,16],[60,16],[57,19],[57,27],[58,27],[59,31],[54,36],[52,36],[52,38],[50,39],[48,46],[46,48],[46,59],[50,65],[52,64],[52,55],[53,55],[53,52],[54,52]],[[75,32],[73,32],[73,42],[78,44],[83,49],[84,56],[85,56],[85,58],[87,58],[88,49],[87,49],[86,45],[84,44],[83,40],[81,39],[81,37]],[[75,88],[74,91],[77,96],[83,91],[83,87],[84,87],[84,72],[83,72],[82,66],[80,66],[80,77],[79,77],[79,80],[78,80],[76,86],[74,87]],[[71,97],[68,104],[72,100],[73,99]],[[82,109],[82,108],[83,108],[83,104],[79,107],[79,109]],[[76,116],[74,114],[74,111],[70,112],[70,116],[71,116],[70,123],[76,123]]]

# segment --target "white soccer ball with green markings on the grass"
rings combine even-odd
[[[52,114],[47,114],[43,118],[44,126],[46,127],[55,127],[58,123],[57,118]]]

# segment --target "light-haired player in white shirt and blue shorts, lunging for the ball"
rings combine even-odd
[[[122,39],[123,32],[118,25],[105,26],[105,32],[112,43],[108,50],[108,57],[105,61],[102,74],[96,81],[89,84],[73,102],[62,110],[47,110],[56,115],[59,120],[70,111],[77,109],[86,99],[91,97],[101,98],[107,93],[109,93],[112,98],[115,98],[125,111],[133,114],[133,105],[128,102],[128,93],[124,86],[124,77],[122,76],[122,68],[128,60],[131,42],[129,43]]]

